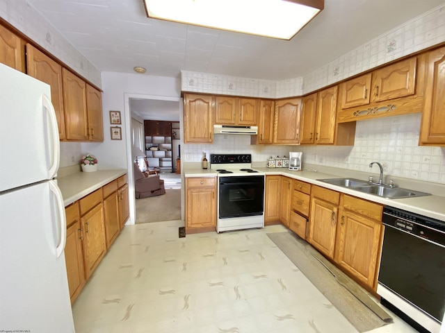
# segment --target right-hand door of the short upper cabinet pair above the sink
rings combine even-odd
[[[417,58],[397,62],[373,72],[373,94],[371,101],[387,101],[414,95]]]

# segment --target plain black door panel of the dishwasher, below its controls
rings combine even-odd
[[[445,310],[444,281],[444,246],[385,225],[379,284],[440,322]]]

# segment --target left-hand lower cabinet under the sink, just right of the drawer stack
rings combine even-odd
[[[331,259],[334,257],[339,197],[337,191],[312,187],[308,241]]]

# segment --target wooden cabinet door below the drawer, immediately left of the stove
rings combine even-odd
[[[215,188],[188,188],[186,193],[186,228],[214,227],[216,227]]]

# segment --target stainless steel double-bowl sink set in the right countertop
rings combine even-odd
[[[318,179],[321,182],[327,182],[332,185],[348,187],[362,193],[373,194],[388,199],[412,198],[414,196],[430,196],[431,194],[421,191],[413,191],[412,189],[403,189],[401,187],[389,187],[387,185],[371,184],[365,180],[354,178],[331,178]]]

